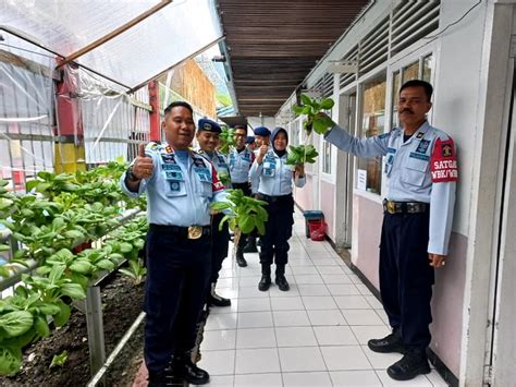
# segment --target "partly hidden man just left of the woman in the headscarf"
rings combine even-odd
[[[235,190],[242,190],[246,196],[250,196],[249,169],[255,160],[253,150],[245,146],[247,137],[247,128],[235,126],[235,146],[230,150],[230,173],[231,184]],[[241,267],[247,266],[244,258],[244,245],[247,241],[247,234],[241,234],[236,247],[236,264]]]

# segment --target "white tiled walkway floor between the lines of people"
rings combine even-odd
[[[246,254],[245,268],[224,261],[218,293],[232,306],[211,309],[205,327],[199,366],[208,386],[446,386],[434,370],[403,383],[386,375],[401,355],[367,347],[389,334],[381,303],[328,242],[305,238],[303,216],[295,220],[290,291],[258,290],[257,253]]]

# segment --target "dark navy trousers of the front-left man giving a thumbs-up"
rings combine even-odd
[[[210,279],[210,254],[209,232],[188,240],[177,230],[151,225],[147,235],[144,346],[149,372],[164,371],[174,353],[194,348]]]

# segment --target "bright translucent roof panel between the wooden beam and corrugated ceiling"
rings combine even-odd
[[[222,36],[210,0],[177,1],[77,62],[135,87]]]

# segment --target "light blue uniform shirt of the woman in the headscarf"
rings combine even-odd
[[[286,154],[279,157],[269,148],[260,165],[257,161],[250,168],[250,180],[258,182],[258,192],[269,196],[282,196],[292,193],[292,181],[297,188],[306,183],[306,178],[295,179],[292,166],[286,164]]]

